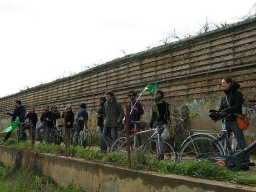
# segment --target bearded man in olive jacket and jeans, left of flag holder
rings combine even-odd
[[[124,119],[125,112],[119,102],[116,101],[114,93],[109,91],[106,92],[106,102],[104,104],[103,116],[104,116],[104,129],[102,139],[102,151],[107,150],[106,139],[109,132],[111,132],[112,141],[117,138],[117,127],[121,124]]]

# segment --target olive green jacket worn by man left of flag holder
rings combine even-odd
[[[124,119],[125,112],[120,102],[113,98],[112,102],[106,101],[103,109],[104,127],[119,127],[116,121]]]

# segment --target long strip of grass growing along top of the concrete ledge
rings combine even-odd
[[[28,142],[7,141],[4,145],[19,149],[37,152],[50,152],[56,155],[65,155],[65,147],[57,145],[35,145]],[[96,150],[86,150],[82,147],[70,147],[71,156],[102,163],[114,163],[127,166],[127,156],[119,153],[103,154]],[[142,152],[132,153],[132,168],[137,170],[156,171],[164,174],[176,174],[192,176],[200,179],[225,181],[234,184],[256,186],[256,177],[246,173],[230,171],[225,167],[218,166],[206,160],[198,160],[192,163],[172,163],[170,161],[152,160],[149,155]]]

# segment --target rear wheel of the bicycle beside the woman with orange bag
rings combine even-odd
[[[207,135],[191,136],[180,150],[179,163],[182,161],[195,161],[212,155],[224,155],[220,142]]]

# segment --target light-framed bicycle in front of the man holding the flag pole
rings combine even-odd
[[[161,133],[164,131],[162,124],[157,125],[155,129],[137,131],[136,126],[141,124],[141,121],[131,122],[135,125],[135,129],[132,130],[132,135],[129,137],[131,140],[131,151],[142,151],[144,154],[150,154],[152,157],[156,157],[157,159],[161,160],[176,160],[176,153],[173,146],[171,146],[168,141],[161,139]],[[149,139],[147,139],[141,145],[138,145],[139,142],[136,141],[138,139],[137,135],[147,132],[154,132],[154,134],[152,134]],[[126,153],[126,150],[127,138],[125,136],[121,136],[114,141],[114,144],[111,146],[109,152]]]

